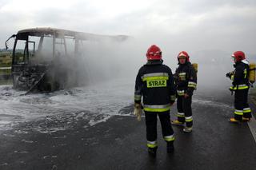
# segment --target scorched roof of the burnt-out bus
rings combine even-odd
[[[31,35],[31,36],[56,36],[56,37],[73,37],[80,40],[99,40],[102,38],[106,39],[114,39],[116,41],[125,41],[128,36],[126,35],[100,35],[100,34],[90,34],[90,33],[83,33],[78,31],[72,30],[62,30],[62,29],[55,29],[55,28],[31,28],[26,30],[19,30],[17,36],[23,37],[24,35]]]

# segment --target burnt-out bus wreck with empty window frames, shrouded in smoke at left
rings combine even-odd
[[[76,69],[81,57],[81,44],[104,40],[123,42],[127,36],[34,28],[20,30],[10,38],[15,38],[11,68],[14,89],[30,93],[78,86],[78,79],[83,78],[83,74]],[[72,81],[68,77],[73,77]]]

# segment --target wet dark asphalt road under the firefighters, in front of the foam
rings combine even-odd
[[[146,148],[145,120],[136,121],[132,105],[120,116],[88,126],[79,121],[57,132],[22,132],[28,123],[0,133],[0,169],[256,169],[256,143],[247,123],[230,124],[229,92],[196,93],[194,129],[174,127],[174,153],[166,153],[158,121],[158,153]],[[255,108],[254,113],[256,112]],[[171,110],[176,113],[175,105]],[[255,117],[255,116],[254,116]],[[52,124],[53,122],[50,122]],[[255,120],[251,122],[255,125]],[[255,127],[255,126],[254,126]],[[254,131],[255,132],[255,131]]]

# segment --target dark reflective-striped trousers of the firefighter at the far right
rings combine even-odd
[[[234,93],[234,119],[242,121],[242,117],[250,118],[251,109],[248,105],[249,89],[237,89]]]

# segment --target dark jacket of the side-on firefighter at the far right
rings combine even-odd
[[[249,62],[246,60],[238,61],[234,68],[234,72],[230,74],[230,79],[233,81],[230,90],[249,89]]]

